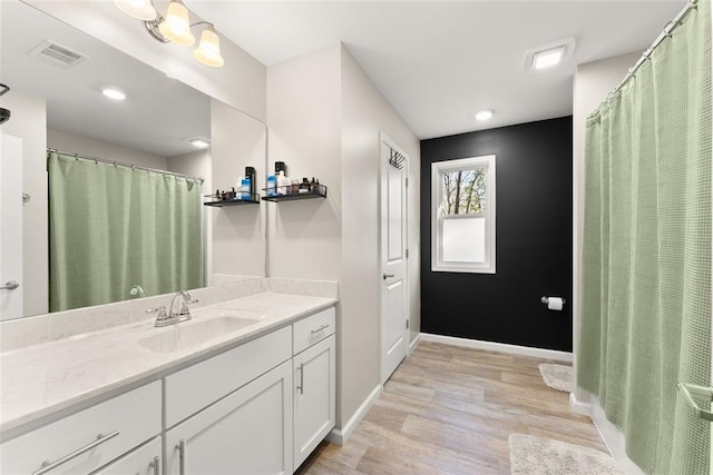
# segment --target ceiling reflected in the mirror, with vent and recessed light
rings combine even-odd
[[[0,82],[43,98],[48,128],[160,157],[195,151],[188,139],[211,137],[207,96],[32,7],[0,3]],[[89,59],[65,70],[28,55],[47,39]],[[106,99],[105,86],[128,98]]]

